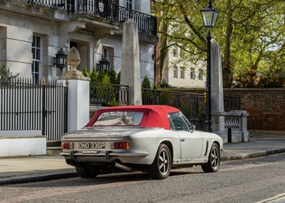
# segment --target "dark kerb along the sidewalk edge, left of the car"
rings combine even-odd
[[[19,177],[4,177],[0,179],[0,185],[4,184],[21,184],[27,182],[41,182],[51,179],[62,179],[68,177],[78,177],[77,173],[73,170],[66,172],[45,173],[37,175],[23,175]]]

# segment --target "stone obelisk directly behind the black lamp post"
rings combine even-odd
[[[224,93],[222,84],[222,56],[218,43],[211,46],[211,102],[212,102],[212,132],[226,138],[224,127]]]

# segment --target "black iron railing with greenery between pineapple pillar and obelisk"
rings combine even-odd
[[[90,83],[90,103],[103,105],[129,105],[128,85]]]

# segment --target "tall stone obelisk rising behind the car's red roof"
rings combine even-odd
[[[130,105],[142,105],[138,26],[133,19],[129,19],[123,24],[120,85],[129,86]]]

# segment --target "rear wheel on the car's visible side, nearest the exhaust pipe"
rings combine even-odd
[[[167,145],[158,147],[157,155],[148,168],[148,175],[152,179],[165,179],[170,175],[172,165],[171,153]]]

